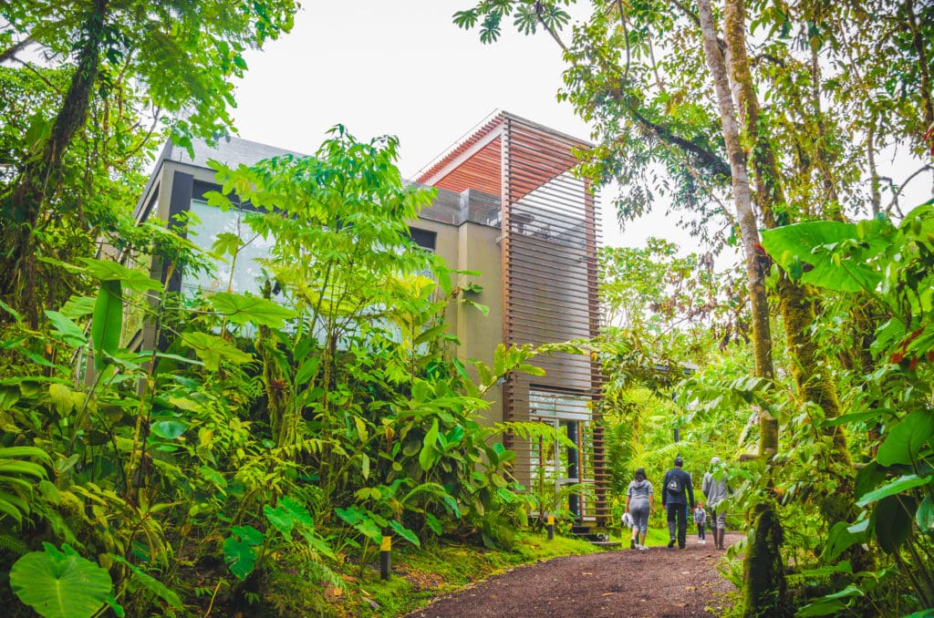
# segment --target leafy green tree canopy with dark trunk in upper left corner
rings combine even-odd
[[[164,137],[232,129],[243,52],[289,32],[291,0],[0,5],[0,300],[35,327],[79,279],[74,260],[132,232],[143,169]],[[41,61],[38,59],[41,58]],[[44,304],[45,303],[45,304]],[[3,316],[0,319],[6,320]]]

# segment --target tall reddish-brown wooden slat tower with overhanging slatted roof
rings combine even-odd
[[[505,344],[540,345],[599,334],[599,217],[589,184],[573,173],[573,149],[586,147],[501,113],[418,177],[453,191],[492,192],[492,183],[500,183]],[[599,364],[588,355],[566,353],[536,358],[535,364],[545,376],[517,374],[503,385],[503,419],[553,424],[578,448],[564,452],[554,444],[509,440],[507,446],[517,452],[517,480],[542,491],[560,493],[564,487],[579,519],[604,524],[610,513],[597,414]],[[593,491],[567,491],[574,482]]]

